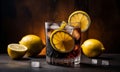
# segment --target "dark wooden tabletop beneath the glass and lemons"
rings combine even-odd
[[[92,60],[97,60],[98,64]],[[32,67],[32,62],[39,62],[40,67]],[[120,72],[120,54],[102,54],[97,59],[82,56],[78,67],[49,65],[45,58],[12,60],[7,54],[0,54],[0,72]]]

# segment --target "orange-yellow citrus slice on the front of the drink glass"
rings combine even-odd
[[[73,37],[64,30],[55,30],[50,36],[52,47],[61,53],[68,53],[74,48]]]

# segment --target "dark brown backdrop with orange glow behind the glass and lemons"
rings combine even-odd
[[[1,0],[0,53],[7,53],[9,43],[18,43],[27,34],[35,34],[45,43],[45,21],[67,21],[75,10],[86,11],[92,20],[82,33],[100,40],[105,53],[120,53],[119,0]]]

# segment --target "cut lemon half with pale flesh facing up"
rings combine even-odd
[[[26,51],[27,51],[27,47],[20,44],[12,43],[12,44],[9,44],[7,47],[8,55],[12,59],[22,58],[25,55]]]

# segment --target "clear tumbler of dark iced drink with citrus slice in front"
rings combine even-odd
[[[46,61],[49,64],[73,66],[80,64],[80,23],[45,22]]]

